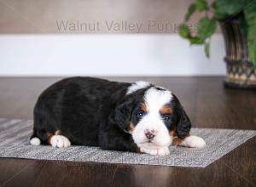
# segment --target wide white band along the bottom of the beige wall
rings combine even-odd
[[[224,41],[203,47],[177,35],[0,35],[1,77],[224,75]]]

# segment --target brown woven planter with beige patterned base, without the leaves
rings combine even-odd
[[[219,21],[224,34],[227,77],[224,85],[229,88],[256,88],[256,69],[249,59],[246,37],[241,34],[241,23],[236,18]]]

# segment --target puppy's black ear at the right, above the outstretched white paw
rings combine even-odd
[[[191,122],[181,105],[180,105],[177,113],[179,115],[179,122],[177,123],[175,133],[177,134],[178,138],[184,139],[186,136],[189,135],[190,128],[191,128]]]

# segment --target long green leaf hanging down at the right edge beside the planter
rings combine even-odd
[[[256,68],[256,2],[247,1],[250,3],[244,10],[245,19],[247,21],[247,46],[250,59]]]

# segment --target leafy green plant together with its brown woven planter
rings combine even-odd
[[[198,21],[195,33],[189,28],[189,18],[196,11],[205,13]],[[209,57],[210,39],[220,26],[225,42],[227,77],[224,85],[232,88],[256,88],[256,1],[255,0],[195,0],[189,6],[178,32],[191,44],[204,45]]]

